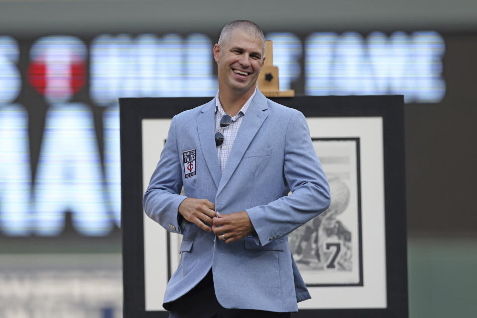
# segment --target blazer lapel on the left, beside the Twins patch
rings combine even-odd
[[[200,147],[215,185],[219,187],[221,179],[219,157],[215,146],[215,98],[204,105],[201,114],[197,117],[197,131]]]

